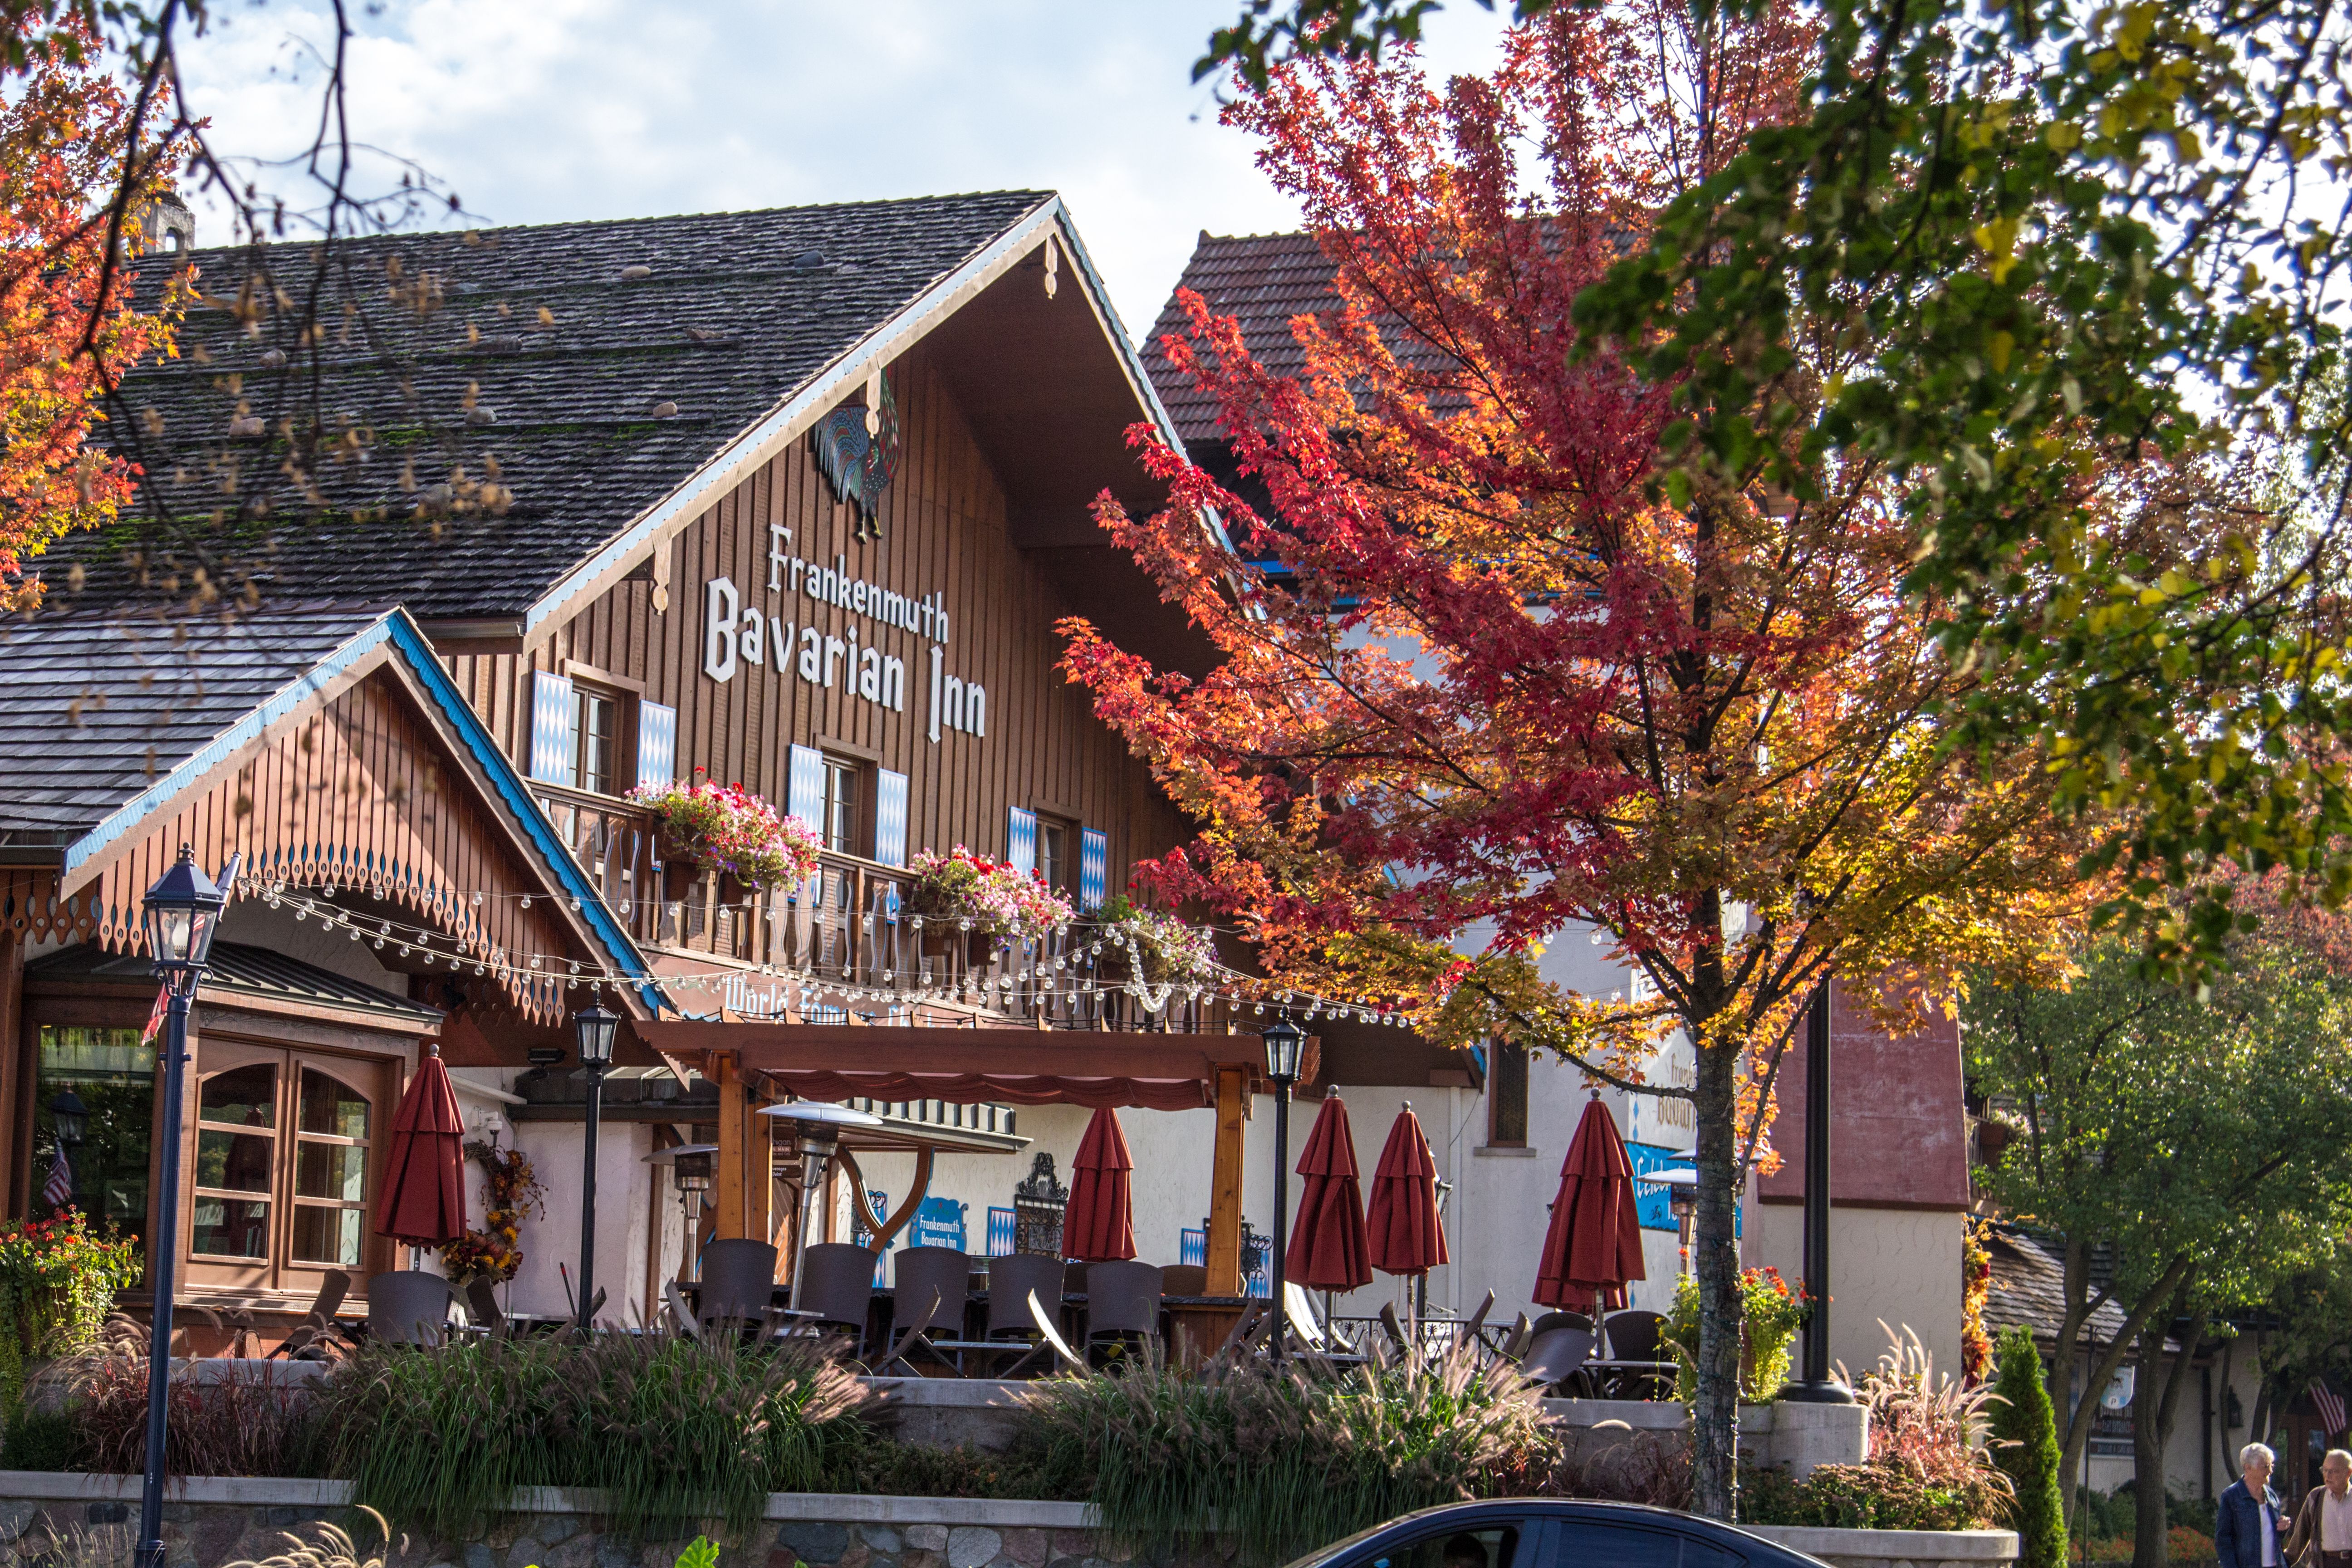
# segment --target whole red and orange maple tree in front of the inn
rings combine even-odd
[[[1522,28],[1491,78],[1444,87],[1409,54],[1275,73],[1228,115],[1263,136],[1341,308],[1291,322],[1296,381],[1200,299],[1167,341],[1270,515],[1148,428],[1169,508],[1098,503],[1223,661],[1188,682],[1063,623],[1065,672],[1202,823],[1145,875],[1237,917],[1279,983],[1693,1100],[1693,1479],[1717,1514],[1733,1201],[1797,1013],[1832,969],[1905,966],[1926,997],[1959,964],[2032,969],[2074,907],[2037,759],[1938,743],[1978,677],[1900,592],[1889,477],[1658,494],[1665,393],[1609,355],[1571,364],[1576,294],[1790,113],[1806,49],[1795,7],[1642,0]],[[1837,374],[1828,331],[1799,374]],[[1653,994],[1545,980],[1543,943],[1585,929]],[[1696,1084],[1644,1084],[1675,1030]]]

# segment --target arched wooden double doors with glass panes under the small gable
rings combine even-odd
[[[198,1048],[188,1284],[313,1295],[381,1253],[367,1206],[397,1067],[238,1039]]]

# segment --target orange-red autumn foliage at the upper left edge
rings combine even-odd
[[[82,21],[35,7],[14,33],[24,75],[0,94],[0,609],[31,609],[42,583],[24,562],[132,498],[136,468],[89,428],[125,369],[172,353],[176,294],[134,308],[122,259],[139,235],[115,252],[115,195],[129,181],[141,207],[155,200],[174,158],[169,143],[134,143],[134,106]],[[165,120],[153,103],[146,129]]]

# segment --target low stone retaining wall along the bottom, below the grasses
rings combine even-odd
[[[513,1512],[477,1540],[395,1540],[386,1568],[670,1568],[682,1540],[630,1542],[600,1528],[602,1495],[522,1488]],[[285,1549],[285,1533],[320,1521],[353,1526],[348,1481],[195,1476],[165,1502],[169,1568],[221,1568]],[[0,1472],[0,1568],[54,1568],[75,1537],[80,1568],[127,1568],[139,1523],[139,1476]],[[365,1521],[362,1521],[365,1523]],[[1997,1568],[2018,1556],[2011,1530],[1809,1530],[1757,1535],[1837,1568]],[[374,1530],[360,1540],[374,1554]],[[1230,1554],[1131,1559],[1103,1544],[1080,1502],[851,1497],[771,1493],[748,1540],[722,1568],[1221,1568]]]

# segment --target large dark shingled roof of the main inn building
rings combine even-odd
[[[40,562],[52,604],[162,592],[202,562],[228,590],[249,578],[273,599],[513,616],[1051,200],[348,240],[322,284],[336,336],[318,388],[289,336],[296,315],[263,313],[247,331],[238,313],[240,296],[268,299],[256,263],[292,301],[315,252],[195,252],[205,303],[188,310],[183,357],[127,378],[134,418],[118,435],[172,520],[61,541]],[[148,259],[151,299],[176,261]],[[367,444],[322,463],[306,496],[275,433],[313,409],[329,435],[348,425]],[[475,494],[485,482],[510,501]]]

